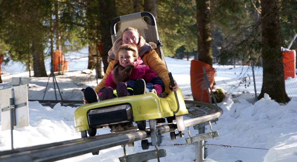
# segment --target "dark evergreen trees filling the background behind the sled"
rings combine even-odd
[[[28,70],[33,65],[34,76],[45,77],[44,59],[56,49],[67,53],[88,45],[88,68],[96,66],[102,77],[101,61],[105,72],[112,47],[111,21],[148,11],[157,20],[165,55],[197,51],[210,65],[213,51],[222,64],[230,58],[245,64],[262,58],[259,97],[268,93],[285,102],[280,47],[296,33],[296,6],[292,0],[0,0],[0,57],[21,61]]]

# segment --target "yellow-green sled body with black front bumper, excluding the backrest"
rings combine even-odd
[[[178,88],[180,116],[187,114],[183,95]],[[90,136],[96,134],[97,128],[109,126],[112,131],[124,131],[129,129],[132,122],[136,122],[140,130],[146,128],[146,120],[159,119],[165,123],[172,123],[173,112],[177,110],[175,95],[170,92],[166,98],[159,98],[157,94],[149,92],[143,95],[126,96],[103,100],[78,107],[74,113],[75,132],[88,130]],[[162,120],[164,118],[164,120]],[[171,122],[170,122],[171,121]],[[183,122],[183,120],[182,120]]]

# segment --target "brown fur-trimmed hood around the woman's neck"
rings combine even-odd
[[[116,52],[119,49],[119,46],[122,45],[121,40],[122,40],[122,37],[116,39],[116,41],[113,43],[113,47],[111,47],[111,49],[108,51],[108,58],[107,58],[108,63],[111,60],[114,60],[115,58],[114,52]],[[143,38],[143,36],[140,36],[139,45],[137,46],[138,55],[142,55],[143,53],[146,53],[149,50],[154,50],[156,48],[157,48],[156,43],[154,42],[146,43],[146,40]]]

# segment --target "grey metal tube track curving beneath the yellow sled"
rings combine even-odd
[[[185,103],[191,104],[191,106],[189,107],[194,110],[192,111],[193,113],[191,113],[191,115],[187,115],[192,117],[184,120],[185,127],[193,126],[209,120],[214,120],[223,114],[223,110],[221,108],[212,104],[187,100],[185,100]],[[199,109],[203,106],[210,109],[209,113],[204,116],[198,116],[200,112]],[[176,123],[170,123],[163,126],[157,126],[157,128],[160,134],[165,134],[171,131],[175,131],[177,129],[177,125]],[[97,152],[98,150],[131,143],[149,137],[150,131],[148,128],[144,131],[119,132],[100,136],[73,139],[64,142],[56,142],[51,144],[0,152],[0,162],[58,161],[65,158],[83,155],[86,153]]]

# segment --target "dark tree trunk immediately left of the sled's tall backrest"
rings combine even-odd
[[[108,67],[107,57],[108,51],[112,47],[112,40],[110,35],[111,21],[116,18],[116,2],[115,0],[98,0],[99,2],[99,19],[100,19],[100,33],[102,44],[102,61],[104,65],[104,73]]]

